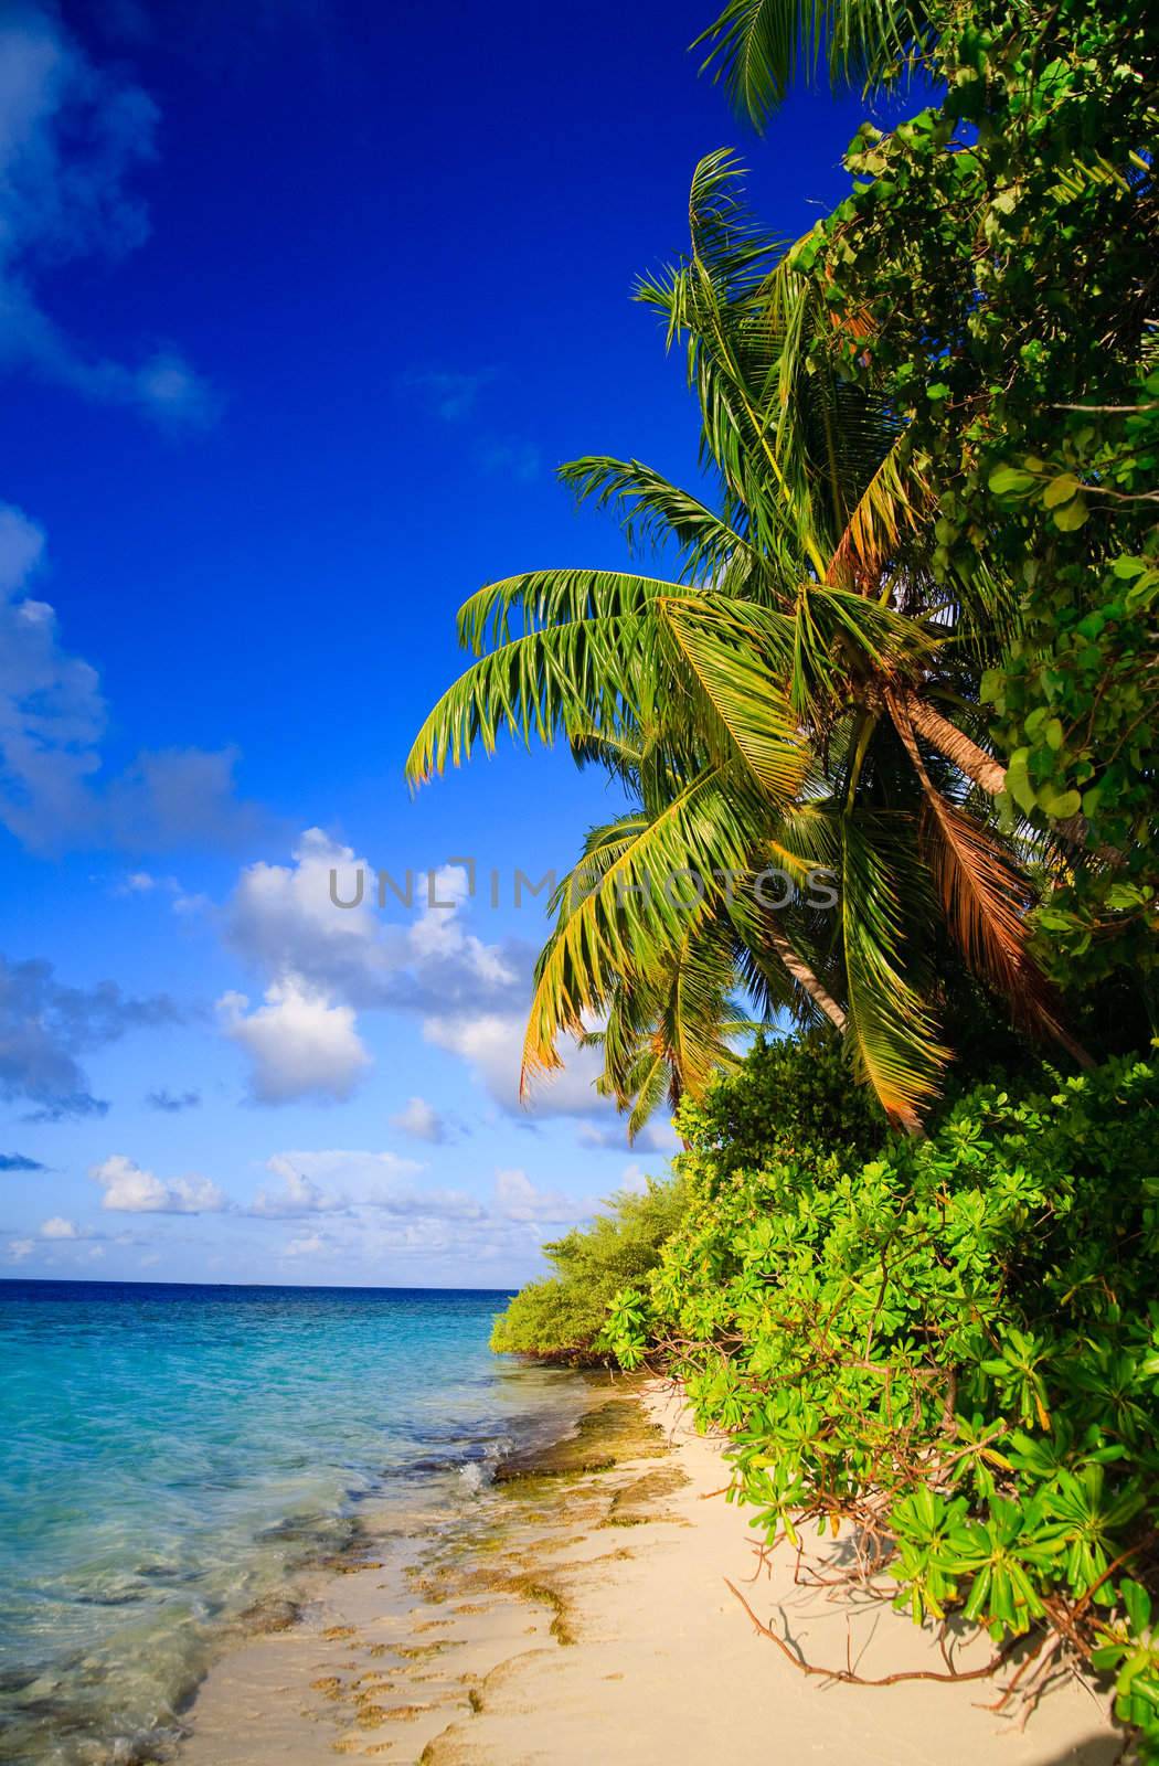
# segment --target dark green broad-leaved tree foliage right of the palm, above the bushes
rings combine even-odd
[[[883,394],[936,496],[931,570],[1005,629],[981,698],[1005,826],[1062,830],[1039,954],[1150,977],[1159,885],[1159,67],[1143,4],[988,0],[943,101],[862,129],[853,194],[797,247],[841,373]],[[1154,1014],[1154,1005],[1152,1005]]]

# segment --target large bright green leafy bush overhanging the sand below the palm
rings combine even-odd
[[[608,1340],[666,1355],[770,1540],[845,1517],[917,1621],[1065,1639],[1159,1757],[1157,1068],[981,1086],[867,1162],[746,1164],[751,1086],[682,1114],[687,1213]]]

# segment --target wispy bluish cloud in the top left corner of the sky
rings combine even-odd
[[[122,258],[148,237],[133,177],[155,157],[159,111],[131,81],[99,69],[55,7],[0,9],[0,369],[21,369],[173,427],[203,424],[214,397],[178,350],[138,362],[69,336],[37,291],[41,274],[78,256]]]

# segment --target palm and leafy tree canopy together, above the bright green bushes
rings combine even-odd
[[[633,1128],[703,1095],[753,1012],[834,1024],[910,1130],[963,977],[1079,1063],[1106,1047],[1078,1023],[1092,984],[1154,1015],[1145,9],[933,7],[875,57],[876,7],[832,19],[841,67],[915,64],[942,102],[864,129],[853,194],[788,251],[728,152],[696,168],[689,247],[640,298],[684,344],[705,493],[562,468],[670,576],[481,590],[477,660],[410,758],[419,781],[505,729],[562,735],[622,786],[553,902],[525,1079],[594,1033]],[[786,30],[772,0],[717,30],[758,111]]]

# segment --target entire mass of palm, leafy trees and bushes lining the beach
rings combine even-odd
[[[481,590],[410,775],[507,731],[620,784],[525,1077],[595,1040],[629,1128],[668,1095],[689,1148],[549,1249],[496,1346],[675,1370],[770,1540],[857,1524],[915,1619],[984,1626],[996,1665],[1028,1639],[1030,1697],[1115,1676],[1159,1759],[1148,23],[730,0],[707,65],[758,127],[822,51],[935,99],[859,132],[788,249],[701,161],[640,298],[705,486],[565,466],[663,574]]]

